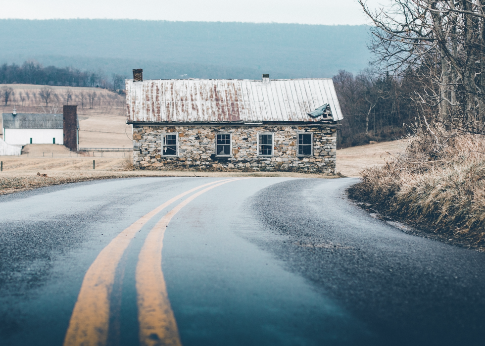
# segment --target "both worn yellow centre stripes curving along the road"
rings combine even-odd
[[[170,210],[150,230],[138,257],[136,289],[140,345],[179,346],[180,337],[162,272],[162,246],[165,228],[177,212],[203,193],[236,180],[233,178],[200,185],[166,201],[118,234],[91,264],[69,321],[64,346],[106,345],[109,328],[110,297],[118,264],[136,233],[164,208],[204,187]]]

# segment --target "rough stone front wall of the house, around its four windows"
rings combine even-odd
[[[274,133],[274,156],[257,156],[257,134]],[[296,156],[298,133],[313,133],[313,156]],[[179,134],[179,156],[161,155],[161,134]],[[215,155],[217,133],[231,133],[232,156]],[[138,169],[291,171],[335,174],[336,125],[133,126],[133,160]]]

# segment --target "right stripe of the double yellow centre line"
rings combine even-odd
[[[235,180],[248,179],[239,178]],[[181,346],[177,322],[168,299],[162,272],[162,247],[165,229],[180,209],[203,193],[229,183],[226,181],[208,187],[185,199],[170,210],[148,233],[138,256],[136,289],[138,322],[140,324],[140,345]]]

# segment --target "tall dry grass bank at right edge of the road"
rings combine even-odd
[[[485,139],[436,127],[385,166],[362,172],[349,195],[446,241],[485,248]]]

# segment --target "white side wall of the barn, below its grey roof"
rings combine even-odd
[[[3,129],[3,140],[8,144],[64,144],[63,129]]]

